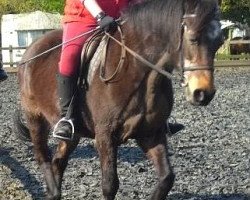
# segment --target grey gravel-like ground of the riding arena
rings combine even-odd
[[[170,200],[250,199],[250,67],[215,71],[217,93],[207,107],[193,107],[174,82],[173,117],[185,128],[170,136],[176,181]],[[13,133],[18,105],[15,74],[0,83],[0,199],[43,199],[42,175],[32,146]],[[52,149],[56,141],[50,140]],[[148,199],[154,169],[133,141],[119,149],[117,200]],[[82,139],[72,154],[62,199],[100,199],[99,160],[93,142]]]

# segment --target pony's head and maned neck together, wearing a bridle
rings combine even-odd
[[[181,68],[190,103],[207,105],[213,99],[214,57],[223,43],[217,0],[147,0],[124,18],[136,52],[152,63],[167,52],[166,68]]]

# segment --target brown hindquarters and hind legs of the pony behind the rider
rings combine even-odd
[[[26,50],[18,70],[22,112],[27,128],[19,124],[21,134],[30,137],[33,151],[46,181],[47,199],[60,199],[63,172],[69,154],[76,148],[79,138],[71,143],[61,141],[55,155],[50,155],[48,136],[59,119],[56,73],[60,49],[42,52],[61,43],[62,31],[51,31],[32,43]],[[36,57],[37,55],[41,55]],[[32,61],[28,61],[31,58]],[[28,62],[27,62],[28,61]]]

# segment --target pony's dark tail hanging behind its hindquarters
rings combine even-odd
[[[13,114],[13,128],[17,137],[25,142],[31,142],[30,131],[22,118],[22,110],[16,109]]]

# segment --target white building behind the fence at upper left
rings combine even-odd
[[[13,53],[2,50],[2,62],[7,67],[9,62],[18,62],[24,53],[24,49],[45,32],[61,28],[60,14],[35,11],[25,14],[8,14],[2,16],[1,36],[2,48],[13,47]],[[1,52],[0,52],[1,53]]]

